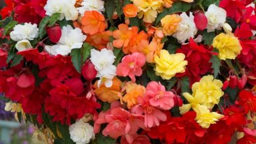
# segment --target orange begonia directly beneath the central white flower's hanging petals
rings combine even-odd
[[[98,88],[98,81],[95,82],[95,94],[98,99],[104,102],[108,101],[108,103],[112,103],[121,98],[121,81],[117,79],[117,77],[114,77],[112,82],[113,84],[110,88],[106,88],[105,84],[101,84]]]

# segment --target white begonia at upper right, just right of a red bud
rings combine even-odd
[[[220,30],[223,24],[226,22],[226,10],[211,4],[205,12],[205,16],[208,20],[207,32]]]

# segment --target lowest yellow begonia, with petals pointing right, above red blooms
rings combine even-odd
[[[216,124],[216,121],[224,117],[224,115],[219,113],[210,112],[204,105],[194,107],[194,111],[196,111],[195,120],[197,120],[196,122],[198,122],[202,128],[209,128],[211,124]]]

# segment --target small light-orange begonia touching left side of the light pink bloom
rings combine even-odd
[[[127,82],[125,84],[126,94],[123,96],[123,101],[127,103],[128,109],[138,104],[137,98],[144,96],[145,88],[140,84]]]

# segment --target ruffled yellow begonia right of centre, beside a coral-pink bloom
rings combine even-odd
[[[169,54],[167,50],[161,50],[160,56],[155,56],[156,75],[161,76],[162,79],[169,80],[177,73],[184,73],[188,62],[185,55],[182,53]]]

